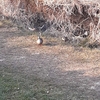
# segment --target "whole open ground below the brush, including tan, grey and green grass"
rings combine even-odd
[[[99,100],[100,50],[37,34],[0,29],[0,99]]]

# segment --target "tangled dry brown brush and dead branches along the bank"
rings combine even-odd
[[[55,29],[75,44],[84,38],[100,42],[99,0],[2,0],[0,10],[27,30],[50,29],[52,34]]]

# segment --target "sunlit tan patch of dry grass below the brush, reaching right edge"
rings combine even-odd
[[[20,36],[7,39],[9,48],[22,48],[31,55],[46,54],[55,55],[61,62],[57,68],[62,71],[84,70],[84,76],[97,77],[100,71],[100,50],[87,47],[73,47],[63,45],[59,38],[43,37],[44,43],[39,46],[36,44],[37,35]],[[97,68],[97,69],[96,69]],[[94,70],[95,69],[95,70]]]

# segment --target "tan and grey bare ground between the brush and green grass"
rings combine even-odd
[[[0,66],[60,87],[58,94],[64,94],[63,98],[55,100],[100,100],[99,49],[69,46],[49,36],[38,46],[35,33],[22,32],[9,23],[1,26]]]

